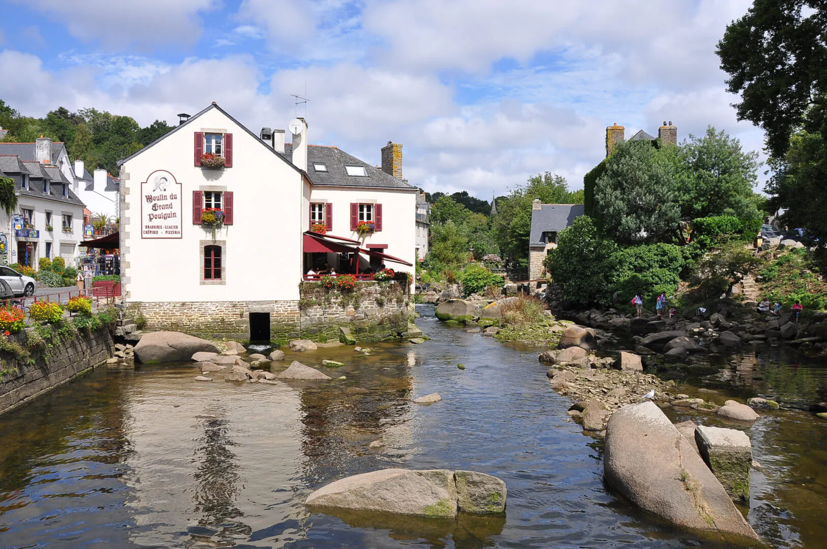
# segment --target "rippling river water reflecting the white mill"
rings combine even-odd
[[[602,446],[570,422],[537,349],[442,325],[423,345],[289,353],[323,384],[194,381],[191,365],[101,367],[0,416],[0,547],[720,547],[639,513],[603,480]],[[779,348],[713,355],[683,380],[711,399],[827,400],[827,370]],[[457,362],[466,366],[457,368]],[[284,366],[274,367],[278,371]],[[411,403],[438,391],[442,402]],[[710,394],[702,394],[710,399]],[[721,424],[709,415],[673,420]],[[765,473],[744,508],[774,547],[827,546],[827,422],[800,410],[744,429]],[[385,447],[371,449],[380,440]],[[479,470],[508,485],[501,518],[309,513],[332,480],[387,467]]]

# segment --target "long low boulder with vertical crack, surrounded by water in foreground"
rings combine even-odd
[[[457,509],[502,514],[505,484],[473,471],[384,469],[323,486],[305,504],[432,518],[454,518]]]

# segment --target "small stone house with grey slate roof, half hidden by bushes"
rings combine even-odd
[[[548,252],[557,247],[557,233],[571,227],[576,217],[583,215],[583,204],[542,204],[539,199],[531,205],[531,232],[528,236],[528,279],[543,278]]]

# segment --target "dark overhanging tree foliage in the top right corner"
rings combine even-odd
[[[827,93],[827,3],[755,0],[718,43],[739,120],[760,124],[782,158],[815,98]]]

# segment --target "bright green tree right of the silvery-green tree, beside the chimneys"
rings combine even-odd
[[[703,136],[689,136],[677,150],[681,218],[732,215],[763,217],[753,192],[758,183],[758,153],[745,152],[726,131],[707,127]]]

